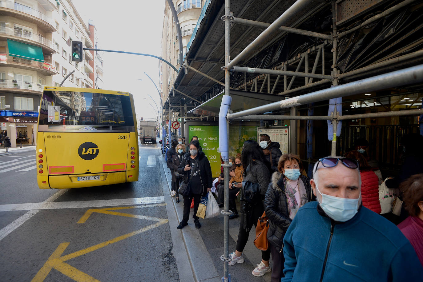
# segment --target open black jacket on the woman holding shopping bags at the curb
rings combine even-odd
[[[188,171],[185,171],[184,168],[188,164],[188,159],[190,159],[191,153],[188,152],[182,157],[182,162],[179,164],[178,172],[179,174],[184,174],[182,181],[185,183],[188,182]],[[203,195],[207,194],[207,188],[211,188],[213,185],[213,178],[211,177],[211,167],[209,159],[207,159],[206,155],[203,151],[198,151],[197,156],[197,166],[198,172],[200,173],[201,183],[203,184]],[[191,163],[191,162],[190,162]]]

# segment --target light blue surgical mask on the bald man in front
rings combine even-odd
[[[358,205],[361,199],[361,191],[360,196],[357,199],[346,199],[341,197],[334,197],[327,194],[322,194],[319,191],[319,188],[316,189],[321,194],[321,201],[319,197],[317,200],[323,211],[331,218],[336,221],[346,222],[354,217],[355,214],[358,212]]]

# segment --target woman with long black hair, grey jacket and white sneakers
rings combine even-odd
[[[236,241],[235,252],[231,254],[232,260],[229,266],[235,263],[243,263],[244,257],[242,251],[248,241],[248,234],[251,227],[257,226],[258,218],[264,211],[264,195],[266,194],[267,186],[269,186],[270,176],[269,168],[266,166],[264,153],[257,142],[254,140],[247,140],[244,142],[241,153],[242,167],[244,167],[243,186],[246,181],[260,184],[259,199],[254,199],[253,203],[248,203],[244,199],[244,187],[239,191],[241,193],[241,218],[239,223],[238,240]],[[253,275],[256,277],[263,276],[266,272],[272,271],[269,266],[270,249],[261,251],[261,262],[253,270]]]

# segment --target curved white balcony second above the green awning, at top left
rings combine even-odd
[[[17,19],[34,22],[49,32],[56,31],[52,18],[33,8],[12,1],[0,1],[0,16],[12,16]]]

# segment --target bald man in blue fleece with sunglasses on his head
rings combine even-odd
[[[300,208],[283,238],[285,281],[421,281],[423,268],[401,231],[361,205],[354,159],[326,157],[310,180],[318,202]]]

